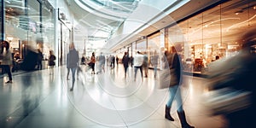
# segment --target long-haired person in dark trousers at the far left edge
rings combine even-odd
[[[6,84],[12,84],[13,78],[12,73],[10,71],[10,67],[13,64],[12,52],[9,50],[9,42],[3,40],[1,42],[1,65],[3,67],[3,71],[8,73],[9,81],[5,82]]]

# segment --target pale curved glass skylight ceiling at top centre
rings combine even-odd
[[[74,16],[87,29],[89,41],[107,40],[134,9],[137,0],[69,1]]]

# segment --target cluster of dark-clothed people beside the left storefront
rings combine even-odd
[[[40,49],[38,51],[32,50],[32,48],[27,49],[26,55],[21,59],[18,53],[14,54],[10,49],[10,44],[8,41],[3,40],[0,43],[0,66],[2,68],[2,73],[7,73],[9,80],[6,84],[13,83],[12,72],[18,70],[32,71],[35,69],[42,70],[43,53]],[[53,73],[53,67],[55,66],[55,55],[53,51],[49,51],[48,65],[50,67],[51,73]]]

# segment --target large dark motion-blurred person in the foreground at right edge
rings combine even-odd
[[[215,64],[214,70],[216,71],[210,72],[212,76],[216,76],[216,74],[221,76],[223,74],[221,76],[222,80],[214,77],[214,80],[217,81],[216,79],[218,79],[218,82],[212,84],[212,89],[210,88],[210,90],[231,89],[231,92],[236,94],[224,99],[225,102],[229,101],[230,107],[228,108],[230,111],[222,111],[220,113],[227,119],[228,128],[256,127],[256,29],[255,27],[249,28],[247,31],[238,38],[238,41],[241,42],[241,49],[238,54],[227,60],[222,60],[221,65]],[[216,66],[218,66],[217,69]],[[246,96],[242,92],[247,92],[249,95]],[[237,100],[236,96],[244,102]],[[235,100],[229,100],[232,97]],[[240,106],[240,108],[234,109],[234,106]],[[229,110],[228,108],[227,110]]]

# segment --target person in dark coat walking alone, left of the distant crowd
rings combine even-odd
[[[72,87],[70,91],[73,91],[73,85],[75,82],[75,73],[79,67],[79,52],[74,48],[74,44],[69,45],[69,52],[67,54],[67,69],[70,68],[72,73]]]

